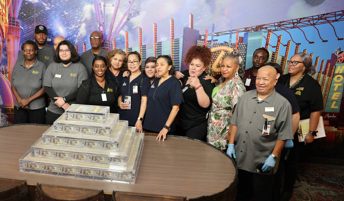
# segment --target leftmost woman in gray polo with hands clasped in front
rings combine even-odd
[[[14,122],[45,123],[43,76],[46,66],[36,59],[38,46],[28,40],[21,46],[25,60],[17,62],[11,76],[11,89],[15,96]]]

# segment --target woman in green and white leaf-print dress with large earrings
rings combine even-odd
[[[241,62],[239,51],[233,51],[222,59],[222,76],[212,93],[207,142],[221,150],[228,147],[228,142],[224,138],[229,132],[230,119],[240,96],[246,92],[242,81],[244,68]]]

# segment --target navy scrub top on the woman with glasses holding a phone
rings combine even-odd
[[[123,77],[122,84],[120,85],[119,94],[122,95],[122,101],[124,102],[124,96],[131,96],[131,109],[121,110],[119,108],[119,119],[129,121],[129,125],[131,126],[134,126],[136,124],[137,118],[139,117],[141,107],[141,96],[147,96],[150,87],[149,77],[146,76],[143,78],[142,87],[140,90],[140,83],[143,76],[144,75],[141,73],[130,83],[130,76]],[[135,85],[138,86],[137,93],[133,93],[133,86]]]

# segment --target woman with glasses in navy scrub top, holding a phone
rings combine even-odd
[[[150,81],[142,74],[141,55],[137,52],[128,54],[129,77],[124,77],[119,86],[118,113],[120,120],[127,120],[129,126],[135,126],[142,133],[142,121],[147,108],[147,93]]]

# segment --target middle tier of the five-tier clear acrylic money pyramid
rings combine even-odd
[[[124,133],[128,131],[135,133],[136,127],[128,127],[128,121],[122,120],[117,121],[112,137],[87,134],[61,133],[55,132],[54,129],[50,127],[43,133],[42,141],[44,144],[49,145],[119,150],[119,148],[122,145],[122,136]],[[92,143],[95,144],[92,145]]]

